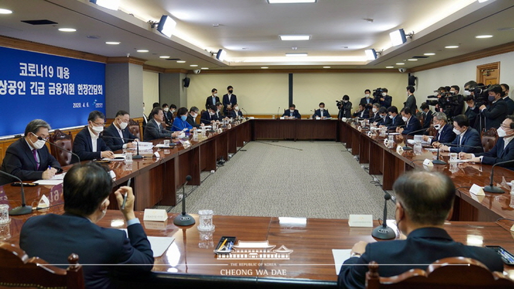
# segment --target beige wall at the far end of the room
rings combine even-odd
[[[188,88],[188,105],[205,108],[205,100],[212,88],[218,89],[222,99],[227,93],[227,86],[234,87],[234,94],[240,107],[249,114],[277,114],[281,107],[289,105],[288,73],[242,73],[242,74],[189,74],[191,84]],[[402,107],[406,99],[405,73],[294,73],[293,103],[303,115],[311,114],[310,110],[318,107],[320,102],[337,115],[335,100],[344,94],[357,107],[360,98],[364,97],[364,89],[371,90],[387,87],[393,96],[393,105]]]

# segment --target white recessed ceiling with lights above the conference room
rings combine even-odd
[[[3,0],[0,8],[13,11],[0,14],[0,35],[109,57],[130,55],[169,69],[413,68],[514,42],[512,0],[121,0],[118,11],[88,0]],[[177,22],[171,38],[147,23],[158,22],[163,14]],[[77,31],[58,31],[63,27]],[[414,35],[406,44],[391,47],[389,33],[399,28]],[[308,34],[311,39],[281,41],[282,34]],[[475,38],[481,34],[493,37]],[[448,45],[460,47],[444,48]],[[211,53],[220,48],[227,51],[224,62]],[[377,60],[365,59],[369,48],[382,51]],[[308,56],[286,57],[289,52]],[[408,61],[428,52],[435,55]],[[163,55],[172,60],[160,59]]]

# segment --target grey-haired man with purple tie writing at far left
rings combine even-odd
[[[61,170],[61,165],[50,155],[45,145],[49,130],[50,125],[44,120],[29,122],[25,127],[24,137],[7,148],[2,162],[2,171],[18,177],[22,181],[53,178],[56,172]],[[0,174],[0,185],[13,181],[16,180]]]

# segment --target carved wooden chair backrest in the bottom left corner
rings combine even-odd
[[[69,267],[62,269],[38,257],[29,258],[11,243],[0,242],[0,286],[83,289],[84,274],[79,256],[68,257]]]

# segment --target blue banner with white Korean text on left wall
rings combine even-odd
[[[104,63],[5,47],[0,63],[0,136],[23,133],[33,119],[63,128],[105,113]]]

